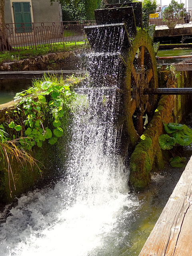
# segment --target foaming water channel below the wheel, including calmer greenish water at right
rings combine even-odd
[[[22,195],[0,212],[0,256],[139,254],[183,169],[166,166],[152,176],[150,188],[130,192],[129,170],[114,154],[118,99],[108,93],[86,88],[89,109],[80,109],[70,125],[60,181]],[[98,111],[103,94],[111,104]],[[186,157],[191,153],[188,148]]]

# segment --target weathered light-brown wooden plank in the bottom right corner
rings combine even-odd
[[[192,157],[139,256],[192,256]]]

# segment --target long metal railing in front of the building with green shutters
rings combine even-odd
[[[94,24],[92,20],[0,24],[0,52],[83,41],[86,38],[84,26]]]

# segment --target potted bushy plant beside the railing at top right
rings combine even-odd
[[[178,4],[175,0],[171,0],[171,3],[164,9],[163,20],[168,28],[174,28],[180,18],[180,14],[184,13],[184,4]]]

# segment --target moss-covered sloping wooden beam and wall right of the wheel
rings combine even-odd
[[[174,81],[168,71],[161,72],[162,83],[168,87],[192,87],[192,72],[179,73]],[[159,146],[159,136],[163,134],[164,123],[183,122],[191,109],[191,96],[162,96],[155,110],[154,117],[140,138],[130,158],[130,183],[137,190],[150,183],[150,172],[164,166],[164,157]]]

